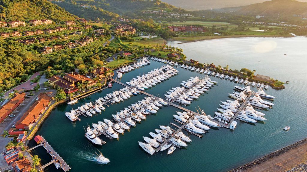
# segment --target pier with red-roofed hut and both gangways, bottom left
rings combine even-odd
[[[60,166],[61,169],[63,169],[65,172],[70,170],[70,166],[68,166],[68,164],[64,161],[64,159],[62,157],[60,157],[59,154],[56,153],[56,151],[50,146],[50,144],[44,139],[43,136],[36,136],[34,138],[34,140],[39,143],[37,146],[34,146],[33,148],[28,149],[27,151],[31,151],[35,148],[38,148],[40,146],[43,146],[46,151],[52,156],[52,160],[41,166],[41,170],[45,169],[47,166],[51,165],[51,164],[58,164]]]

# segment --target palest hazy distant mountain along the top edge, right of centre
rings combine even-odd
[[[187,10],[220,9],[227,7],[247,6],[254,3],[265,2],[266,0],[162,0],[163,2],[181,7]],[[307,0],[299,0],[307,2]]]

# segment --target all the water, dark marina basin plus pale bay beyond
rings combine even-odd
[[[119,141],[108,140],[101,136],[103,140],[107,141],[107,144],[98,149],[111,160],[111,163],[100,165],[94,161],[94,152],[97,151],[97,148],[84,137],[84,126],[91,125],[91,123],[96,123],[99,120],[102,121],[103,118],[111,119],[111,115],[116,111],[141,100],[144,96],[137,95],[120,104],[107,107],[101,115],[92,118],[80,116],[81,122],[69,122],[64,113],[72,108],[76,109],[81,103],[94,101],[113,90],[122,88],[121,85],[114,84],[111,89],[105,89],[82,99],[76,105],[63,104],[58,106],[51,112],[37,134],[45,137],[72,167],[72,172],[94,170],[227,171],[306,138],[306,39],[244,38],[241,42],[238,39],[227,39],[227,42],[228,40],[232,42],[228,43],[228,47],[224,40],[174,45],[184,48],[184,53],[188,57],[199,61],[204,60],[201,62],[214,62],[222,66],[228,64],[233,68],[251,68],[253,66],[257,71],[261,71],[261,74],[270,75],[282,81],[289,80],[290,84],[286,85],[284,90],[269,89],[266,91],[268,94],[274,95],[276,99],[274,100],[274,108],[263,111],[268,119],[265,123],[258,122],[251,125],[239,121],[234,131],[221,128],[210,129],[208,133],[204,134],[203,138],[191,135],[192,142],[188,144],[186,149],[176,149],[172,155],[166,155],[167,152],[159,152],[150,156],[142,148],[139,148],[138,141],[143,140],[142,136],[149,136],[149,133],[154,132],[154,129],[159,128],[159,125],[168,125],[169,122],[173,122],[173,114],[176,113],[177,109],[163,107],[158,110],[157,115],[148,116],[146,121],[142,121],[141,124],[137,124],[136,128],[130,129],[130,132],[125,132],[123,136],[121,135]],[[253,47],[255,43],[261,41],[275,41],[277,45],[273,50],[261,54],[247,48]],[[173,45],[173,43],[171,44]],[[198,46],[198,49],[192,50],[194,46]],[[234,49],[238,46],[241,46],[240,50]],[[279,50],[276,50],[277,48]],[[290,49],[292,50],[290,51]],[[284,52],[286,50],[287,52]],[[199,56],[192,55],[193,51],[197,51],[196,54]],[[283,54],[288,54],[288,56]],[[223,61],[227,59],[229,61],[223,64]],[[273,62],[277,62],[277,66],[273,66]],[[251,63],[254,63],[254,65],[251,65]],[[125,83],[137,75],[142,75],[162,65],[162,63],[152,61],[149,66],[126,73],[122,77],[122,82]],[[278,71],[275,71],[275,69],[278,69]],[[181,68],[178,68],[178,70],[177,76],[158,84],[147,92],[163,96],[165,91],[171,89],[171,87],[179,86],[181,81],[192,76],[201,76],[201,74]],[[209,92],[200,96],[199,100],[193,101],[191,106],[187,107],[188,109],[195,110],[199,106],[204,109],[206,114],[212,115],[220,101],[228,99],[228,93],[233,91],[235,85],[239,85],[219,78],[213,79],[212,77],[212,80],[218,81],[218,84]],[[291,126],[290,131],[282,130],[285,125]],[[32,140],[30,147],[34,145],[35,143]],[[38,148],[33,153],[42,158],[43,164],[51,159],[43,148]],[[50,166],[47,171],[61,170],[56,170],[54,166]]]

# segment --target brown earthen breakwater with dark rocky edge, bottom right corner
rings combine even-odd
[[[283,155],[285,153],[288,153],[290,151],[295,151],[294,149],[299,149],[299,147],[303,147],[306,144],[307,144],[307,138],[304,139],[304,140],[298,141],[298,142],[296,142],[294,144],[291,144],[291,145],[289,145],[289,146],[287,146],[285,148],[282,148],[282,149],[280,149],[278,151],[274,151],[274,152],[272,152],[272,153],[270,153],[268,155],[263,156],[262,158],[256,159],[256,160],[254,160],[252,162],[249,162],[247,164],[239,166],[238,168],[232,169],[232,170],[230,170],[228,172],[253,171],[253,168],[256,168],[257,166],[260,166],[260,165],[264,165],[264,163],[267,163],[268,161],[274,161],[274,160],[277,161],[277,162],[274,162],[275,164],[282,163],[283,166],[284,166],[285,164],[282,161],[283,159],[280,158],[279,156],[281,156],[281,155]],[[289,159],[286,159],[286,161],[287,160],[289,160]],[[275,165],[275,164],[273,164],[273,165]],[[299,164],[293,164],[292,167],[295,167],[297,165],[299,165]],[[261,167],[259,167],[259,168],[261,168]],[[257,171],[257,170],[259,170],[259,169],[255,169],[255,171]],[[262,170],[265,171],[266,169],[262,169]]]

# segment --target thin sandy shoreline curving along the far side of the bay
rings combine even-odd
[[[191,36],[190,36],[191,37]],[[196,36],[197,37],[197,36]],[[212,40],[212,39],[226,39],[226,38],[292,38],[293,35],[289,36],[278,36],[278,35],[229,35],[229,36],[204,36],[204,39],[196,39],[191,41],[185,41],[185,40],[176,40],[176,39],[167,39],[167,41],[178,41],[182,43],[192,43],[192,42],[198,42],[198,41],[206,41],[206,40]],[[189,37],[177,37],[177,38],[189,38]],[[181,44],[181,43],[179,43]]]

